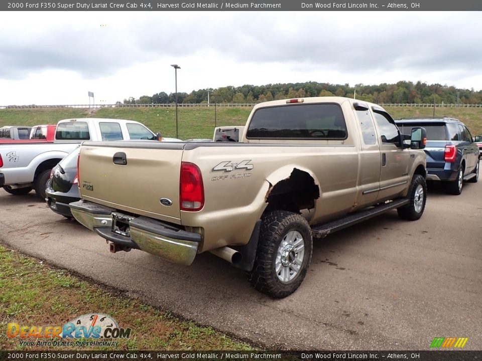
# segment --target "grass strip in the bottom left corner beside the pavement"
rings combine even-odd
[[[64,270],[0,246],[0,349],[66,349],[20,346],[19,337],[7,337],[7,325],[16,322],[21,326],[62,326],[91,312],[108,314],[119,327],[132,328],[129,339],[118,340],[115,349],[119,350],[253,349],[210,327],[173,317],[140,300],[107,292]]]

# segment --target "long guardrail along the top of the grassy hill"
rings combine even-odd
[[[179,103],[178,107],[254,107],[257,103],[217,103],[217,104],[184,104]],[[433,104],[414,104],[414,103],[382,103],[381,106],[401,106],[401,107],[422,107],[433,108]],[[69,104],[69,105],[0,105],[0,109],[30,109],[30,108],[87,108],[87,109],[100,109],[100,108],[140,108],[140,107],[175,107],[175,103],[169,104]],[[435,104],[436,108],[481,108],[482,104]]]

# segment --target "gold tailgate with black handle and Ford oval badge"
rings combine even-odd
[[[82,198],[168,222],[179,221],[183,146],[152,141],[84,143],[79,157]]]

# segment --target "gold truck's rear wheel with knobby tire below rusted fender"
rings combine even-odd
[[[308,222],[299,214],[273,211],[263,216],[251,285],[275,298],[292,294],[305,278],[313,240]]]

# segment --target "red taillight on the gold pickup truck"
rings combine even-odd
[[[179,182],[179,202],[181,211],[199,211],[204,206],[204,187],[201,171],[193,163],[181,162]]]

